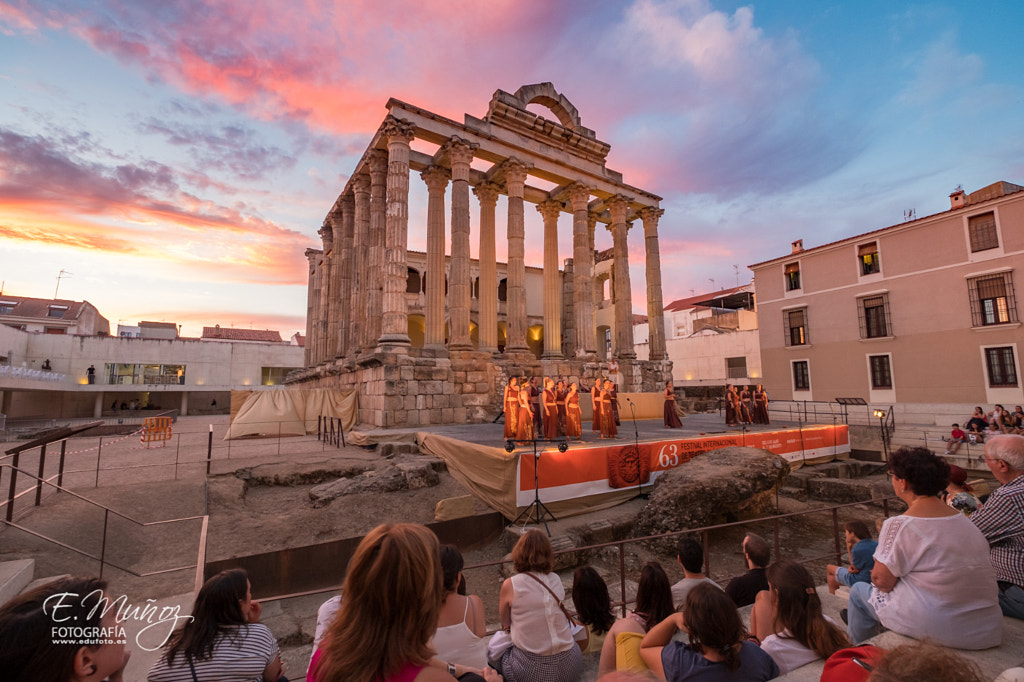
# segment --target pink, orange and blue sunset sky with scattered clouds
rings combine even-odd
[[[608,166],[665,198],[666,302],[731,287],[795,239],[1024,183],[1022,27],[1009,1],[0,0],[0,281],[49,298],[63,269],[59,297],[112,326],[287,338],[305,329],[303,252],[388,97],[462,121],[551,81]]]

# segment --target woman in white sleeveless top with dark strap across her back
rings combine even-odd
[[[577,645],[562,605],[565,588],[553,565],[551,542],[540,530],[522,534],[512,548],[516,572],[502,583],[498,609],[512,640],[501,658],[508,682],[574,682],[583,671],[588,642]]]

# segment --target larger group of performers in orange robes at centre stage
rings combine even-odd
[[[583,417],[580,393],[591,394],[594,403],[594,431],[602,438],[618,433],[618,390],[610,379],[598,379],[593,388],[582,389],[575,382],[547,378],[544,389],[537,377],[512,377],[505,386],[502,406],[505,410],[505,437],[532,440],[535,437],[566,437],[583,440]]]

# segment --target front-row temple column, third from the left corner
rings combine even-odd
[[[526,345],[526,225],[523,215],[523,189],[526,185],[526,165],[510,158],[502,164],[509,216],[506,235],[509,241],[508,279],[506,285],[505,351],[528,351]]]

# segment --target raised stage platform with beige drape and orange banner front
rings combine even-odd
[[[849,428],[837,425],[759,425],[724,428],[718,415],[691,415],[683,428],[662,420],[623,421],[618,437],[600,438],[585,423],[584,440],[516,442],[506,451],[502,424],[451,425],[360,431],[361,445],[415,441],[421,452],[443,460],[469,492],[506,518],[515,517],[540,491],[556,516],[620,504],[640,494],[664,472],[703,453],[730,446],[767,450],[793,469],[850,456]],[[536,457],[535,457],[536,453]]]

